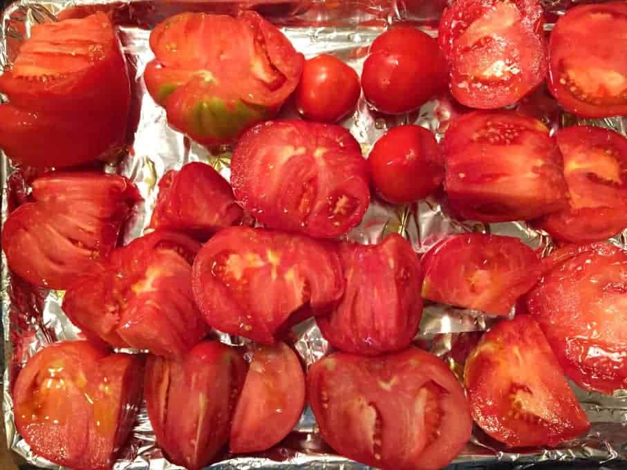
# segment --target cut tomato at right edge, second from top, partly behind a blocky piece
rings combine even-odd
[[[557,240],[601,241],[627,227],[627,139],[592,126],[560,129],[570,205],[539,220]]]

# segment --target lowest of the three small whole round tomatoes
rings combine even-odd
[[[411,124],[390,129],[375,142],[368,171],[377,193],[395,204],[426,198],[444,179],[436,138]]]

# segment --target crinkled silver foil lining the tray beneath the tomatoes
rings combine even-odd
[[[308,57],[318,53],[335,54],[360,71],[366,49],[391,22],[409,20],[432,35],[436,34],[438,18],[446,0],[252,0],[235,3],[231,0],[169,0],[169,1],[110,1],[68,0],[35,1],[21,0],[13,3],[3,13],[0,28],[0,65],[7,66],[15,57],[19,43],[28,36],[30,26],[43,21],[55,21],[60,10],[69,7],[99,6],[113,10],[120,38],[132,71],[131,83],[134,102],[138,113],[138,124],[132,147],[118,160],[106,167],[106,171],[120,173],[135,182],[144,197],[144,203],[125,232],[125,241],[142,234],[150,219],[156,200],[156,183],[169,169],[178,169],[191,161],[211,164],[221,174],[230,175],[230,149],[209,153],[167,125],[165,112],[153,102],[142,83],[144,66],[153,57],[149,46],[149,28],[163,18],[188,9],[207,12],[234,13],[238,8],[256,8],[283,29],[294,46]],[[549,18],[563,14],[564,8],[577,3],[574,0],[544,0]],[[550,29],[550,25],[548,27]],[[545,90],[535,93],[519,106],[534,113],[550,126],[577,124],[577,118],[561,113],[554,106],[546,106],[548,94]],[[549,98],[549,100],[552,100]],[[539,103],[543,102],[541,106]],[[417,123],[430,129],[441,138],[448,122],[459,112],[458,105],[448,95],[442,95],[424,106],[420,111],[400,117],[378,115],[368,109],[362,99],[357,111],[344,125],[362,144],[364,155],[371,145],[391,126]],[[293,104],[286,104],[284,116],[294,116]],[[590,123],[590,121],[581,121]],[[592,122],[626,133],[627,120],[609,118]],[[15,171],[6,158],[0,162],[2,191],[2,220],[6,220],[8,200],[12,197],[6,182]],[[442,198],[430,198],[418,205],[391,206],[375,200],[366,217],[348,238],[359,243],[377,243],[386,234],[397,232],[406,236],[417,252],[425,252],[440,238],[451,233],[490,232],[517,236],[528,245],[539,248],[543,253],[552,249],[550,238],[525,223],[500,223],[484,225],[460,221],[448,215]],[[613,243],[627,246],[627,232],[615,237]],[[66,318],[60,308],[63,292],[34,290],[23,282],[12,279],[2,255],[1,266],[2,327],[5,341],[3,372],[4,421],[10,448],[31,464],[45,469],[59,469],[37,457],[15,430],[10,388],[15,376],[28,357],[53,341],[73,339],[79,331]],[[486,330],[494,322],[480,312],[460,310],[449,306],[429,304],[424,309],[420,334],[416,341],[420,346],[444,357],[451,368],[458,372],[459,364],[447,356],[456,335],[464,332]],[[241,344],[241,340],[221,335],[221,340],[230,344]],[[308,320],[294,328],[294,344],[306,361],[312,364],[328,353],[328,344],[321,337],[315,321]],[[539,371],[541,373],[541,371]],[[586,410],[592,429],[588,435],[563,444],[558,449],[507,450],[476,429],[465,451],[454,464],[473,466],[490,462],[516,462],[534,464],[548,460],[571,461],[589,459],[597,462],[625,460],[627,458],[627,392],[614,397],[587,393],[573,386],[577,397]],[[180,469],[165,460],[155,444],[155,438],[145,407],[140,411],[129,442],[115,463],[115,470],[174,470]],[[221,460],[209,468],[220,470],[243,469],[365,469],[345,458],[333,455],[328,446],[321,442],[315,420],[308,409],[294,432],[279,446],[262,454],[249,456],[223,455]]]

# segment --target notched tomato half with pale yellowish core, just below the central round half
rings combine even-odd
[[[328,313],[344,293],[344,279],[331,245],[230,227],[198,253],[192,287],[209,325],[272,344],[292,322]]]

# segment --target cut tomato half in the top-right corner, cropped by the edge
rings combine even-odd
[[[551,93],[590,118],[627,114],[627,4],[581,5],[555,23],[549,44]]]

